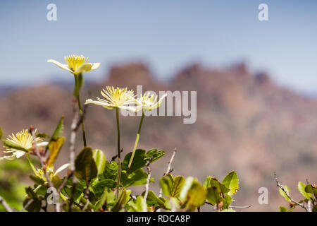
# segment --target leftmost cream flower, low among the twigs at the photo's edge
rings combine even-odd
[[[36,131],[37,130],[35,129],[35,133]],[[19,145],[21,148],[24,148],[25,150],[31,150],[33,142],[34,142],[32,134],[29,133],[27,129],[23,129],[23,131],[20,131],[19,133],[16,133],[15,135],[12,133],[11,136],[8,136],[8,138],[6,138],[6,141],[13,143],[15,145]],[[36,141],[38,146],[46,146],[48,144],[48,142],[43,142],[42,138],[39,138],[39,137],[36,138]],[[6,146],[4,146],[4,148],[6,148],[6,151],[4,151],[4,153],[12,153],[12,155],[0,157],[0,160],[13,161],[25,155],[25,151],[23,150],[9,148]]]

